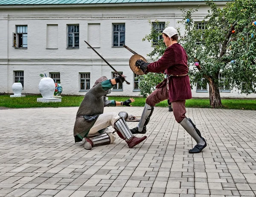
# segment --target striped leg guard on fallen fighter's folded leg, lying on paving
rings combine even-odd
[[[83,138],[84,148],[87,150],[92,149],[94,146],[102,146],[110,144],[110,137],[107,133],[96,135],[93,138]]]

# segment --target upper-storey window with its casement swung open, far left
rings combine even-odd
[[[18,32],[18,27],[19,28],[22,27],[21,33]],[[28,25],[15,25],[15,32],[16,33],[12,33],[12,47],[27,49],[28,48]],[[26,37],[26,44],[24,44],[25,37]],[[20,39],[22,39],[21,45],[20,45]],[[23,45],[26,45],[26,47],[23,47]]]

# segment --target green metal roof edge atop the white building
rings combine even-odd
[[[227,0],[214,0],[227,1]],[[204,0],[0,0],[0,5],[67,5],[103,3],[204,2]]]

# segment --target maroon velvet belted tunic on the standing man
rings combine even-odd
[[[178,43],[175,43],[163,53],[163,56],[156,62],[152,62],[147,67],[147,72],[160,73],[165,72],[168,75],[181,75],[189,72],[187,65],[188,56],[185,49]],[[166,85],[165,80],[157,85],[162,87]],[[169,76],[169,100],[185,100],[192,98],[189,76]]]

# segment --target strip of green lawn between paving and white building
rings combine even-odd
[[[28,108],[28,107],[79,107],[84,96],[62,96],[60,103],[38,103],[39,95],[29,96],[23,98],[10,98],[9,95],[0,96],[0,107],[9,108]],[[109,100],[125,101],[130,97],[110,96]],[[256,110],[256,100],[253,99],[222,99],[223,108],[225,109],[239,109],[239,110]],[[132,106],[144,106],[145,98],[136,97]],[[157,107],[167,107],[167,101],[160,102]],[[186,101],[186,107],[201,107],[210,108],[209,99],[194,98]]]

